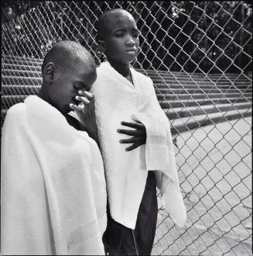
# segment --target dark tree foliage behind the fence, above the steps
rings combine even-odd
[[[10,26],[20,54],[41,57],[41,49],[48,50],[56,41],[75,39],[96,52],[93,25],[97,16],[107,9],[123,8],[132,13],[141,31],[138,61],[144,68],[251,70],[251,2],[46,2],[50,12],[39,8],[39,15],[46,17],[39,20],[36,6],[41,1],[2,2],[2,22],[15,22],[27,12],[34,16],[31,24]],[[36,33],[31,33],[34,29]]]

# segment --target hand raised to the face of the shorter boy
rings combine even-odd
[[[77,105],[70,104],[70,108],[77,112],[80,123],[87,130],[87,133],[98,142],[97,140],[97,123],[95,116],[94,95],[91,92],[79,91],[76,99],[80,101]]]

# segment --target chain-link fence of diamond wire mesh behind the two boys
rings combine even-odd
[[[251,254],[249,2],[40,2],[2,24],[1,124],[39,92],[42,58],[57,41],[80,42],[100,63],[97,17],[115,8],[141,32],[132,65],[152,78],[170,119],[187,209],[179,228],[159,201],[152,254]]]

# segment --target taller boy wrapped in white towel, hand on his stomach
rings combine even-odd
[[[138,33],[125,10],[113,9],[98,19],[98,49],[108,61],[97,67],[91,90],[108,191],[103,239],[109,254],[151,254],[156,185],[174,222],[183,226],[186,221],[169,121],[151,79],[130,67],[138,54]]]

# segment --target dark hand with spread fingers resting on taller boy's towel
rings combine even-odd
[[[126,151],[134,150],[136,147],[139,147],[142,144],[145,144],[147,134],[145,131],[145,126],[142,123],[121,122],[121,125],[136,129],[136,130],[125,130],[125,129],[117,130],[118,133],[123,133],[123,134],[132,136],[132,138],[130,139],[119,141],[121,144],[132,144],[130,147],[127,147],[125,149]]]

